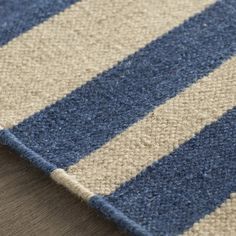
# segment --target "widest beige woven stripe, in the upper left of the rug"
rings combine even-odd
[[[9,127],[166,33],[213,0],[88,0],[0,49],[0,124]]]

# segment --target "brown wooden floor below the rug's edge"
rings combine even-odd
[[[0,146],[0,235],[124,235],[41,171]]]

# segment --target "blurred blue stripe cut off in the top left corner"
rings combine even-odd
[[[0,46],[78,0],[0,0]]]

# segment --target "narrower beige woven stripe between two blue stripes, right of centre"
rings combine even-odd
[[[71,166],[90,191],[109,194],[236,105],[236,57]]]

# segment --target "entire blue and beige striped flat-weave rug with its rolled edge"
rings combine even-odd
[[[132,235],[236,235],[236,0],[0,0],[0,124]]]

